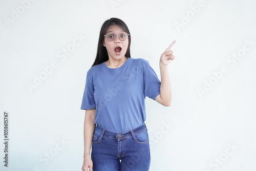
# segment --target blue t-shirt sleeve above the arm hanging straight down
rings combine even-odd
[[[91,72],[87,72],[86,76],[86,86],[84,88],[81,110],[94,109],[96,108],[96,103],[94,100],[94,86]]]

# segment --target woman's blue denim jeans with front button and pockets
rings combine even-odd
[[[91,157],[93,171],[148,171],[151,158],[146,126],[113,133],[97,125]]]

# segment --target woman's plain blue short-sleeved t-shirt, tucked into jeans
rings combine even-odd
[[[96,108],[94,123],[105,130],[128,132],[145,122],[145,97],[155,100],[160,84],[145,59],[127,58],[119,68],[102,62],[87,72],[81,109]]]

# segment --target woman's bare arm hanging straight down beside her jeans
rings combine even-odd
[[[91,110],[86,110],[86,116],[84,117],[84,127],[83,127],[83,141],[84,141],[84,156],[82,170],[85,171],[90,168],[92,171],[93,162],[91,155],[88,154],[91,151],[93,133],[95,129],[94,119],[95,119],[96,108]]]

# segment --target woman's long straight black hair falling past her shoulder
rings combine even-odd
[[[98,65],[102,62],[105,62],[105,61],[109,60],[108,51],[106,50],[106,47],[103,46],[103,41],[104,41],[104,35],[106,33],[106,30],[108,30],[108,28],[110,26],[113,26],[113,25],[117,25],[117,26],[121,27],[125,32],[130,34],[130,31],[129,31],[128,27],[126,26],[126,24],[121,19],[119,19],[119,18],[110,18],[110,19],[106,20],[103,23],[103,25],[101,26],[101,29],[100,29],[97,55],[96,55],[96,58],[95,58],[95,61],[92,65],[92,67],[96,66],[96,65]],[[131,34],[128,36],[128,39],[129,39],[129,44],[128,44],[125,56],[127,58],[129,58],[129,57],[131,58],[131,53],[130,53]]]

